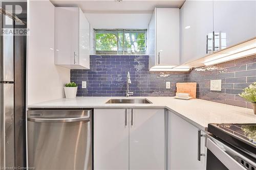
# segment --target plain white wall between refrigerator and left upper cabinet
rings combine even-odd
[[[59,99],[70,70],[54,65],[54,6],[50,1],[30,1],[27,61],[28,105]]]

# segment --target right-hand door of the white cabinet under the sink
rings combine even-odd
[[[165,169],[164,129],[164,109],[132,109],[130,169]]]

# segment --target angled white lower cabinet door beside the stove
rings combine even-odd
[[[175,113],[168,111],[167,169],[206,169],[205,137],[201,131],[198,148],[199,129]],[[198,154],[205,154],[200,156]]]

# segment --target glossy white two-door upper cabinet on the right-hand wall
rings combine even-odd
[[[180,20],[184,64],[256,37],[256,1],[185,1]]]

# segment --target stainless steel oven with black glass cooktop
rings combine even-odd
[[[255,125],[209,124],[205,146],[207,170],[256,169]]]

